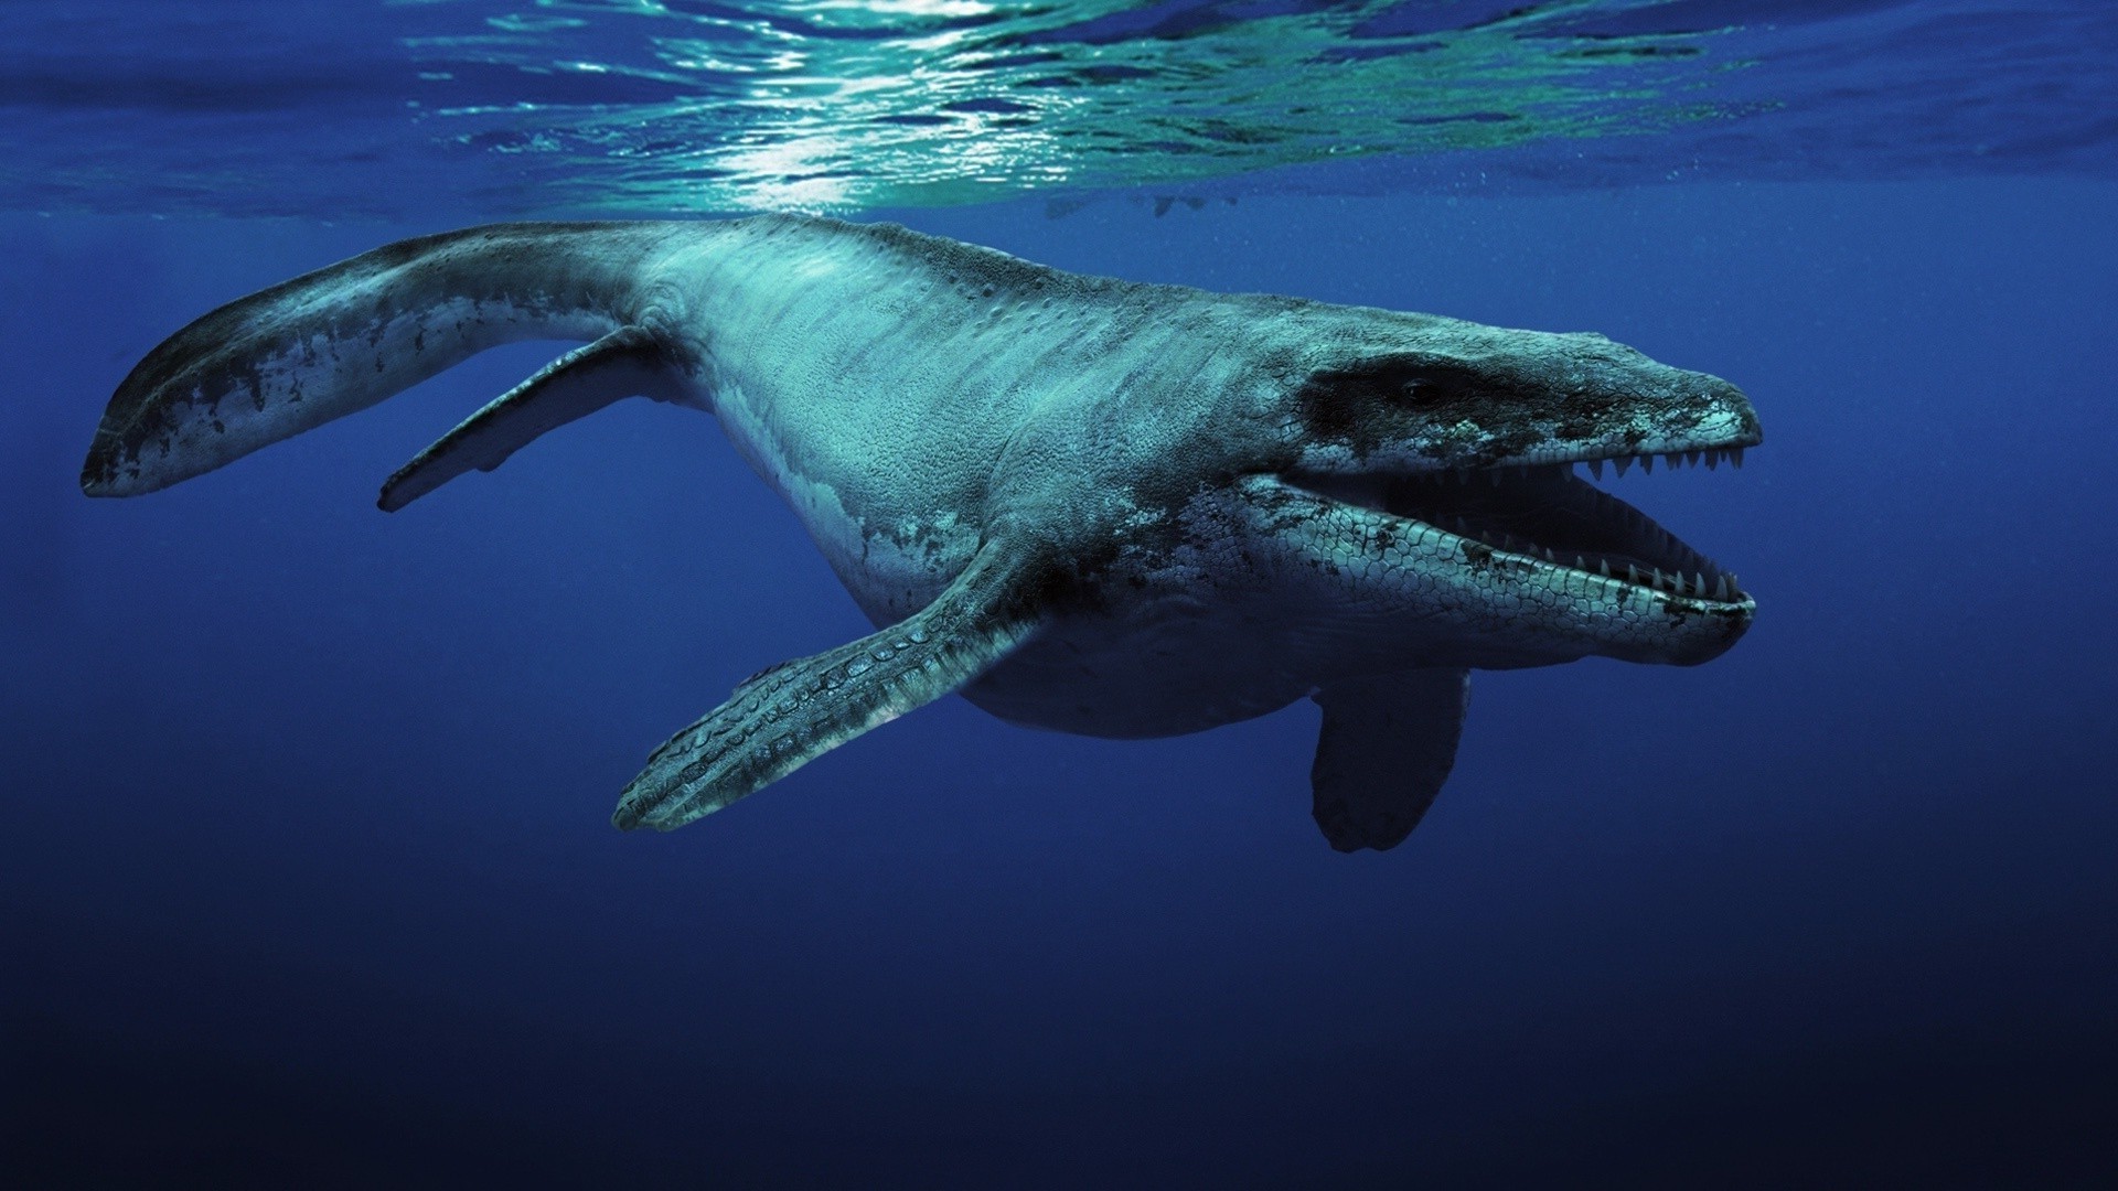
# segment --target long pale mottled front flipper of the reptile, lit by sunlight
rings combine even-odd
[[[970,682],[1036,629],[1029,574],[1017,553],[987,543],[904,621],[752,674],[648,757],[610,822],[684,826]]]

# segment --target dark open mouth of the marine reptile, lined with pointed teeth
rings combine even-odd
[[[1597,477],[1635,464],[1743,466],[1741,447],[1578,460]],[[1665,600],[1739,608],[1749,596],[1737,576],[1688,547],[1652,517],[1595,487],[1574,462],[1440,468],[1398,475],[1290,475],[1296,487],[1432,526],[1442,534],[1516,557],[1533,568],[1584,572],[1612,589],[1639,587]]]

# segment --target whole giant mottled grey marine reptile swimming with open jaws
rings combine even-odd
[[[83,487],[176,483],[532,335],[597,343],[421,454],[383,506],[623,396],[695,405],[881,627],[760,672],[678,733],[623,826],[688,822],[953,689],[1093,735],[1339,691],[1345,725],[1404,740],[1328,725],[1345,744],[1320,754],[1317,816],[1328,784],[1381,799],[1387,829],[1339,807],[1326,833],[1387,848],[1447,776],[1461,670],[1697,663],[1754,610],[1569,468],[1756,443],[1726,381],[1597,335],[1084,278],[794,216],[498,225],[297,278],[142,360]],[[1434,523],[1447,511],[1480,526]],[[1510,549],[1504,526],[1536,530]],[[1593,557],[1542,557],[1550,534]],[[1398,689],[1419,693],[1381,706]]]

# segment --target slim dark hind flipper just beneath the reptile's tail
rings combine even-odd
[[[413,456],[383,483],[375,504],[396,513],[466,470],[493,470],[532,439],[627,396],[676,401],[682,379],[671,354],[644,326],[621,326],[574,348]]]

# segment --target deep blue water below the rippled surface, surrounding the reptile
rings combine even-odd
[[[667,837],[612,799],[864,632],[707,417],[618,407],[400,515],[496,352],[165,494],[104,396],[430,227],[4,225],[11,1185],[2090,1185],[2118,1119],[2118,189],[1688,184],[921,212],[1131,278],[1603,331],[1743,384],[1616,490],[1760,593],[1699,670],[1487,674],[1389,854],[1313,708],[959,699]]]

